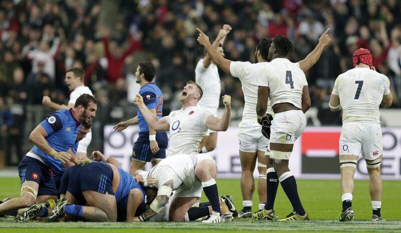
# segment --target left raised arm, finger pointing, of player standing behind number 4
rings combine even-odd
[[[226,73],[230,73],[230,63],[231,60],[224,58],[209,42],[209,37],[199,28],[196,28],[199,32],[199,36],[197,37],[197,41],[205,47],[206,52],[210,59],[215,62],[217,66],[219,66]],[[215,41],[216,42],[216,41]]]

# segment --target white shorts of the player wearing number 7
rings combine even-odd
[[[362,155],[374,160],[383,154],[383,135],[378,123],[343,122],[340,136],[340,155]]]

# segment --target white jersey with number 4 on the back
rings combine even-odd
[[[258,85],[269,87],[272,107],[276,103],[288,102],[302,108],[302,89],[308,82],[298,63],[287,58],[275,58],[260,69]]]

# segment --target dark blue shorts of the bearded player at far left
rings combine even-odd
[[[53,178],[53,171],[40,160],[24,156],[18,165],[18,174],[21,184],[25,181],[34,181],[39,184],[38,196],[56,195],[56,182]]]

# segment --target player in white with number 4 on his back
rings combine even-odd
[[[292,42],[285,36],[277,35],[269,48],[269,63],[260,69],[258,77],[258,102],[256,113],[258,121],[267,117],[267,101],[270,98],[274,119],[270,133],[270,154],[278,180],[290,200],[294,212],[281,220],[308,220],[301,200],[297,183],[288,163],[295,140],[306,126],[305,112],[310,107],[308,83],[297,63],[285,58],[292,50]],[[267,196],[271,190],[267,189]],[[257,218],[272,219],[274,210],[270,204],[256,212]]]

